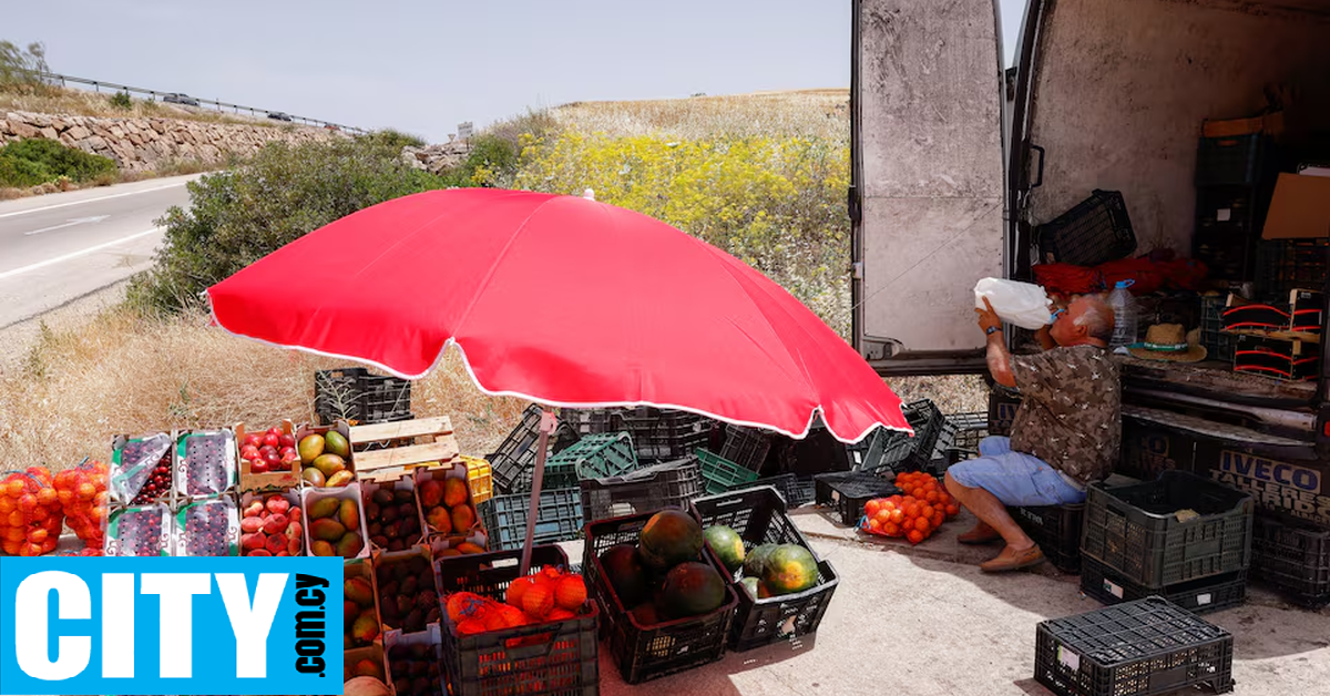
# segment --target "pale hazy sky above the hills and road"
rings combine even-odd
[[[1011,63],[1021,0],[999,0]],[[850,0],[65,0],[51,69],[442,142],[569,101],[849,87]]]

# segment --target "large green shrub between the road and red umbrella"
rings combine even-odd
[[[177,311],[279,246],[371,205],[444,188],[402,161],[383,138],[297,146],[270,142],[246,165],[189,184],[189,209],[172,208],[154,267],[134,277],[129,301]]]

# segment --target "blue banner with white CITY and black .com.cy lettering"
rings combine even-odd
[[[0,693],[342,693],[340,558],[0,558]]]

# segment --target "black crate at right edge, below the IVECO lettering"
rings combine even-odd
[[[1330,531],[1257,515],[1252,576],[1305,607],[1330,604]]]

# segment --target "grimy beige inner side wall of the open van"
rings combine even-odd
[[[1202,120],[1256,114],[1274,83],[1295,85],[1298,113],[1319,120],[1301,125],[1330,117],[1330,19],[1279,5],[1049,0],[1031,117],[1047,162],[1031,222],[1120,190],[1140,253],[1189,256]]]

